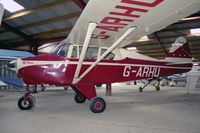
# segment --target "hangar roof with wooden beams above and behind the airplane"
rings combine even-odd
[[[88,0],[15,0],[25,9],[15,13],[5,10],[0,28],[0,48],[32,51],[47,42],[61,41],[67,37]],[[163,58],[171,43],[184,36],[192,54],[200,60],[200,33],[191,34],[190,29],[200,28],[200,11],[167,28],[148,35],[129,46],[137,52]]]

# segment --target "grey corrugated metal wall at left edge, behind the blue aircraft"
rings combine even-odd
[[[17,78],[17,74],[15,71],[9,70],[5,67],[5,65],[10,61],[12,60],[0,59],[0,77]],[[0,86],[0,90],[19,90],[19,89],[23,88],[11,84],[7,84],[7,86]]]

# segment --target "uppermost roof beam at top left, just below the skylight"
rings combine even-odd
[[[5,17],[3,19],[3,21],[7,21],[7,20],[10,20],[10,19],[15,19],[15,18],[22,17],[22,16],[25,16],[25,15],[30,15],[30,14],[33,14],[33,13],[41,12],[43,10],[47,10],[49,8],[53,8],[53,7],[63,5],[63,4],[67,4],[67,3],[70,3],[70,2],[72,2],[72,0],[55,1],[55,2],[52,2],[52,3],[48,3],[48,4],[45,4],[45,5],[30,9],[30,10],[14,13],[14,14],[8,16],[8,17]]]

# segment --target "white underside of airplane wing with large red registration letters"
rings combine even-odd
[[[98,25],[90,45],[111,46],[127,29],[134,30],[118,47],[126,46],[198,11],[199,0],[90,0],[66,38],[82,45],[90,21]]]

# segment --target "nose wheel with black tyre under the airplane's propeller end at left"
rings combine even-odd
[[[26,104],[24,102],[24,96],[18,100],[18,107],[21,110],[29,110],[34,106],[33,99],[30,96],[27,97]]]

